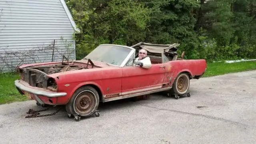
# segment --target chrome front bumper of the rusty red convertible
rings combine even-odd
[[[36,94],[36,95],[39,95],[39,96],[47,96],[47,97],[50,97],[50,98],[54,98],[54,97],[66,96],[67,95],[66,92],[49,92],[49,91],[46,91],[45,89],[42,89],[42,88],[36,88],[36,89],[35,88],[30,88],[30,86],[25,86],[25,85],[21,84],[19,80],[15,80],[14,84],[20,90],[24,90],[26,92]]]

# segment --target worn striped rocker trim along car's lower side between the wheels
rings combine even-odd
[[[124,96],[118,96],[118,97],[114,97],[114,98],[103,99],[103,102],[110,102],[110,101],[113,101],[113,100],[120,100],[120,99],[124,99],[124,98],[132,98],[132,97],[135,97],[135,96],[142,96],[144,94],[162,92],[162,91],[165,91],[165,90],[170,90],[171,88],[172,87],[161,88],[161,89],[151,90],[151,91],[147,91],[147,92],[139,92],[139,93],[136,93],[136,94],[128,94],[128,95],[124,95]]]

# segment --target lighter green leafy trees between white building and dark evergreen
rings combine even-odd
[[[66,0],[81,32],[76,34],[77,59],[99,44],[132,44],[145,38],[150,10],[136,0]]]

